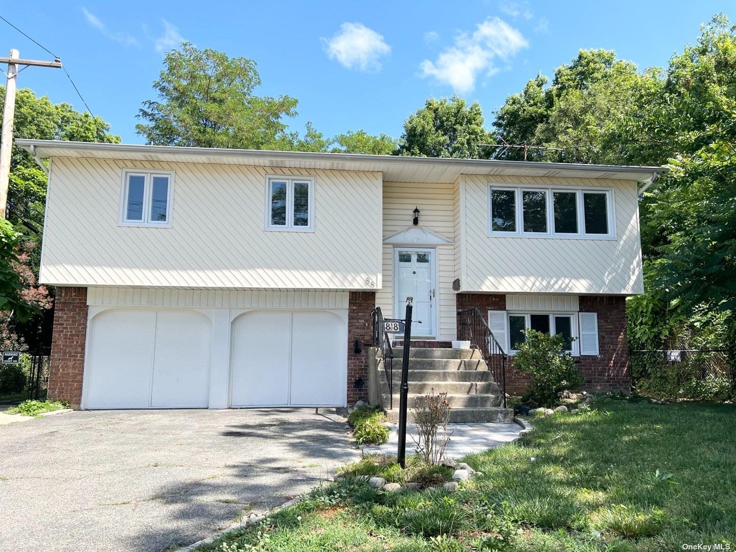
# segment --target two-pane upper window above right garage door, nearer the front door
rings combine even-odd
[[[266,230],[314,231],[314,178],[266,177]]]

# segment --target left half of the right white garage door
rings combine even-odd
[[[291,313],[255,311],[233,322],[232,406],[289,404]]]

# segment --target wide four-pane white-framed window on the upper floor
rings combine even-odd
[[[488,236],[615,238],[612,188],[488,185]]]

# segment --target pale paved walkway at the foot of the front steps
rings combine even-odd
[[[519,436],[521,426],[516,422],[447,424],[451,434],[445,448],[447,458],[459,459],[466,454],[482,453],[492,447],[512,442]],[[406,453],[414,452],[417,425],[406,426]],[[389,441],[383,445],[363,447],[363,453],[379,453],[396,456],[399,442],[398,425],[392,424]]]

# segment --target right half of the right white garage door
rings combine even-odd
[[[291,404],[345,400],[344,322],[330,312],[294,312],[291,326]]]

